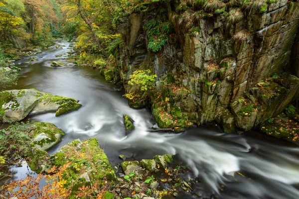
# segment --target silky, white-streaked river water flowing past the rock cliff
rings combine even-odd
[[[132,109],[122,97],[124,92],[105,82],[98,71],[74,66],[50,67],[51,61],[65,62],[69,43],[63,49],[47,49],[38,60],[16,62],[22,70],[13,89],[34,88],[41,92],[80,100],[82,107],[55,117],[46,113],[31,117],[51,122],[65,133],[62,142],[49,150],[55,153],[66,143],[97,137],[112,165],[119,154],[131,160],[152,158],[157,154],[176,154],[192,174],[198,177],[198,195],[180,198],[221,199],[299,199],[299,148],[259,132],[242,135],[223,134],[216,128],[198,127],[179,134],[149,132],[155,125],[150,111]],[[64,54],[56,58],[55,55]],[[123,114],[135,120],[135,130],[125,136]],[[14,168],[14,180],[24,177],[26,167]],[[239,174],[236,174],[239,172]]]

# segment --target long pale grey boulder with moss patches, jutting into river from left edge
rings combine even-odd
[[[77,110],[78,100],[41,93],[35,89],[0,92],[0,122],[14,122],[28,114],[56,111],[56,116]]]

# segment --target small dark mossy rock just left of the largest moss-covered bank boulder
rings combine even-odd
[[[27,164],[37,174],[44,172],[49,167],[50,156],[48,152],[32,148],[27,154]]]

